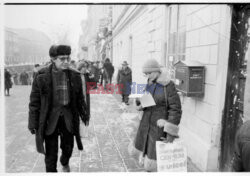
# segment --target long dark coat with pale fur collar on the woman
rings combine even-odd
[[[165,99],[165,92],[167,102]],[[135,148],[142,151],[149,159],[156,160],[156,141],[166,137],[163,128],[157,126],[159,119],[165,119],[178,125],[181,119],[181,102],[175,85],[167,76],[161,74],[156,83],[147,85],[146,90],[153,96],[156,106],[144,108],[143,116],[135,139]]]

